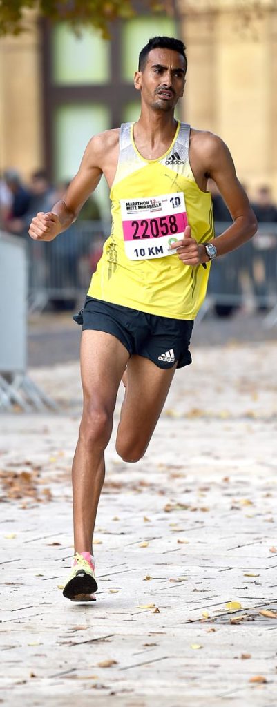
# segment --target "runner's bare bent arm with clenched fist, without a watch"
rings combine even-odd
[[[105,140],[102,135],[93,137],[86,147],[78,173],[71,181],[64,198],[54,204],[47,214],[40,211],[29,228],[33,240],[54,240],[59,233],[71,226],[90,194],[94,192],[102,176],[102,153]]]

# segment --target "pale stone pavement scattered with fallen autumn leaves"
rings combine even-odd
[[[141,462],[114,429],[91,604],[61,595],[78,364],[30,371],[61,412],[0,419],[0,702],[276,707],[275,371],[273,343],[196,349]]]

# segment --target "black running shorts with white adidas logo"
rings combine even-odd
[[[86,297],[83,309],[73,317],[83,331],[95,329],[117,337],[132,354],[150,358],[159,368],[191,363],[189,341],[194,322],[158,317],[130,307]]]

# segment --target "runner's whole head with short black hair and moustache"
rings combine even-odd
[[[174,37],[152,37],[139,54],[134,86],[142,103],[152,110],[174,111],[184,93],[187,57],[183,42]]]

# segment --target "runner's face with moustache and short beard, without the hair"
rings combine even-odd
[[[134,86],[141,100],[153,110],[167,112],[182,98],[185,84],[184,57],[172,49],[151,49],[143,71],[136,71]]]

